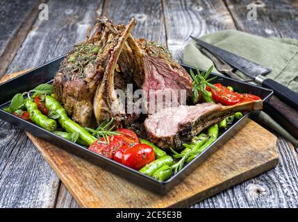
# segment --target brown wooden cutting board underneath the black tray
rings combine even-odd
[[[22,73],[4,76],[0,83]],[[180,185],[160,196],[27,135],[81,207],[188,207],[272,169],[279,160],[277,138],[250,120]]]

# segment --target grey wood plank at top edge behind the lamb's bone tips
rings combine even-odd
[[[127,23],[135,17],[137,25],[133,28],[134,37],[144,37],[165,44],[165,24],[161,1],[106,1],[104,15],[114,22]]]

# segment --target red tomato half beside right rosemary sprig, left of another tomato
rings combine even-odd
[[[239,94],[233,92],[227,87],[224,87],[220,83],[216,83],[214,86],[217,88],[217,90],[216,89],[210,89],[210,90],[215,102],[221,103],[222,105],[235,105],[236,103],[239,103],[240,101]]]

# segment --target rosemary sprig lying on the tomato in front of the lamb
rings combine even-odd
[[[114,119],[110,119],[110,120],[105,120],[103,121],[99,127],[97,127],[97,129],[92,129],[92,128],[85,128],[86,130],[88,130],[90,133],[92,133],[92,135],[94,137],[96,137],[97,139],[99,138],[104,138],[104,141],[102,143],[105,144],[110,144],[110,138],[109,136],[113,136],[113,135],[120,135],[119,132],[117,131],[113,131],[113,129],[115,128],[115,125],[112,126]],[[101,141],[99,141],[101,142]]]

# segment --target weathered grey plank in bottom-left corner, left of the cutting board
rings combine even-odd
[[[59,181],[26,134],[0,120],[0,207],[53,207]]]

